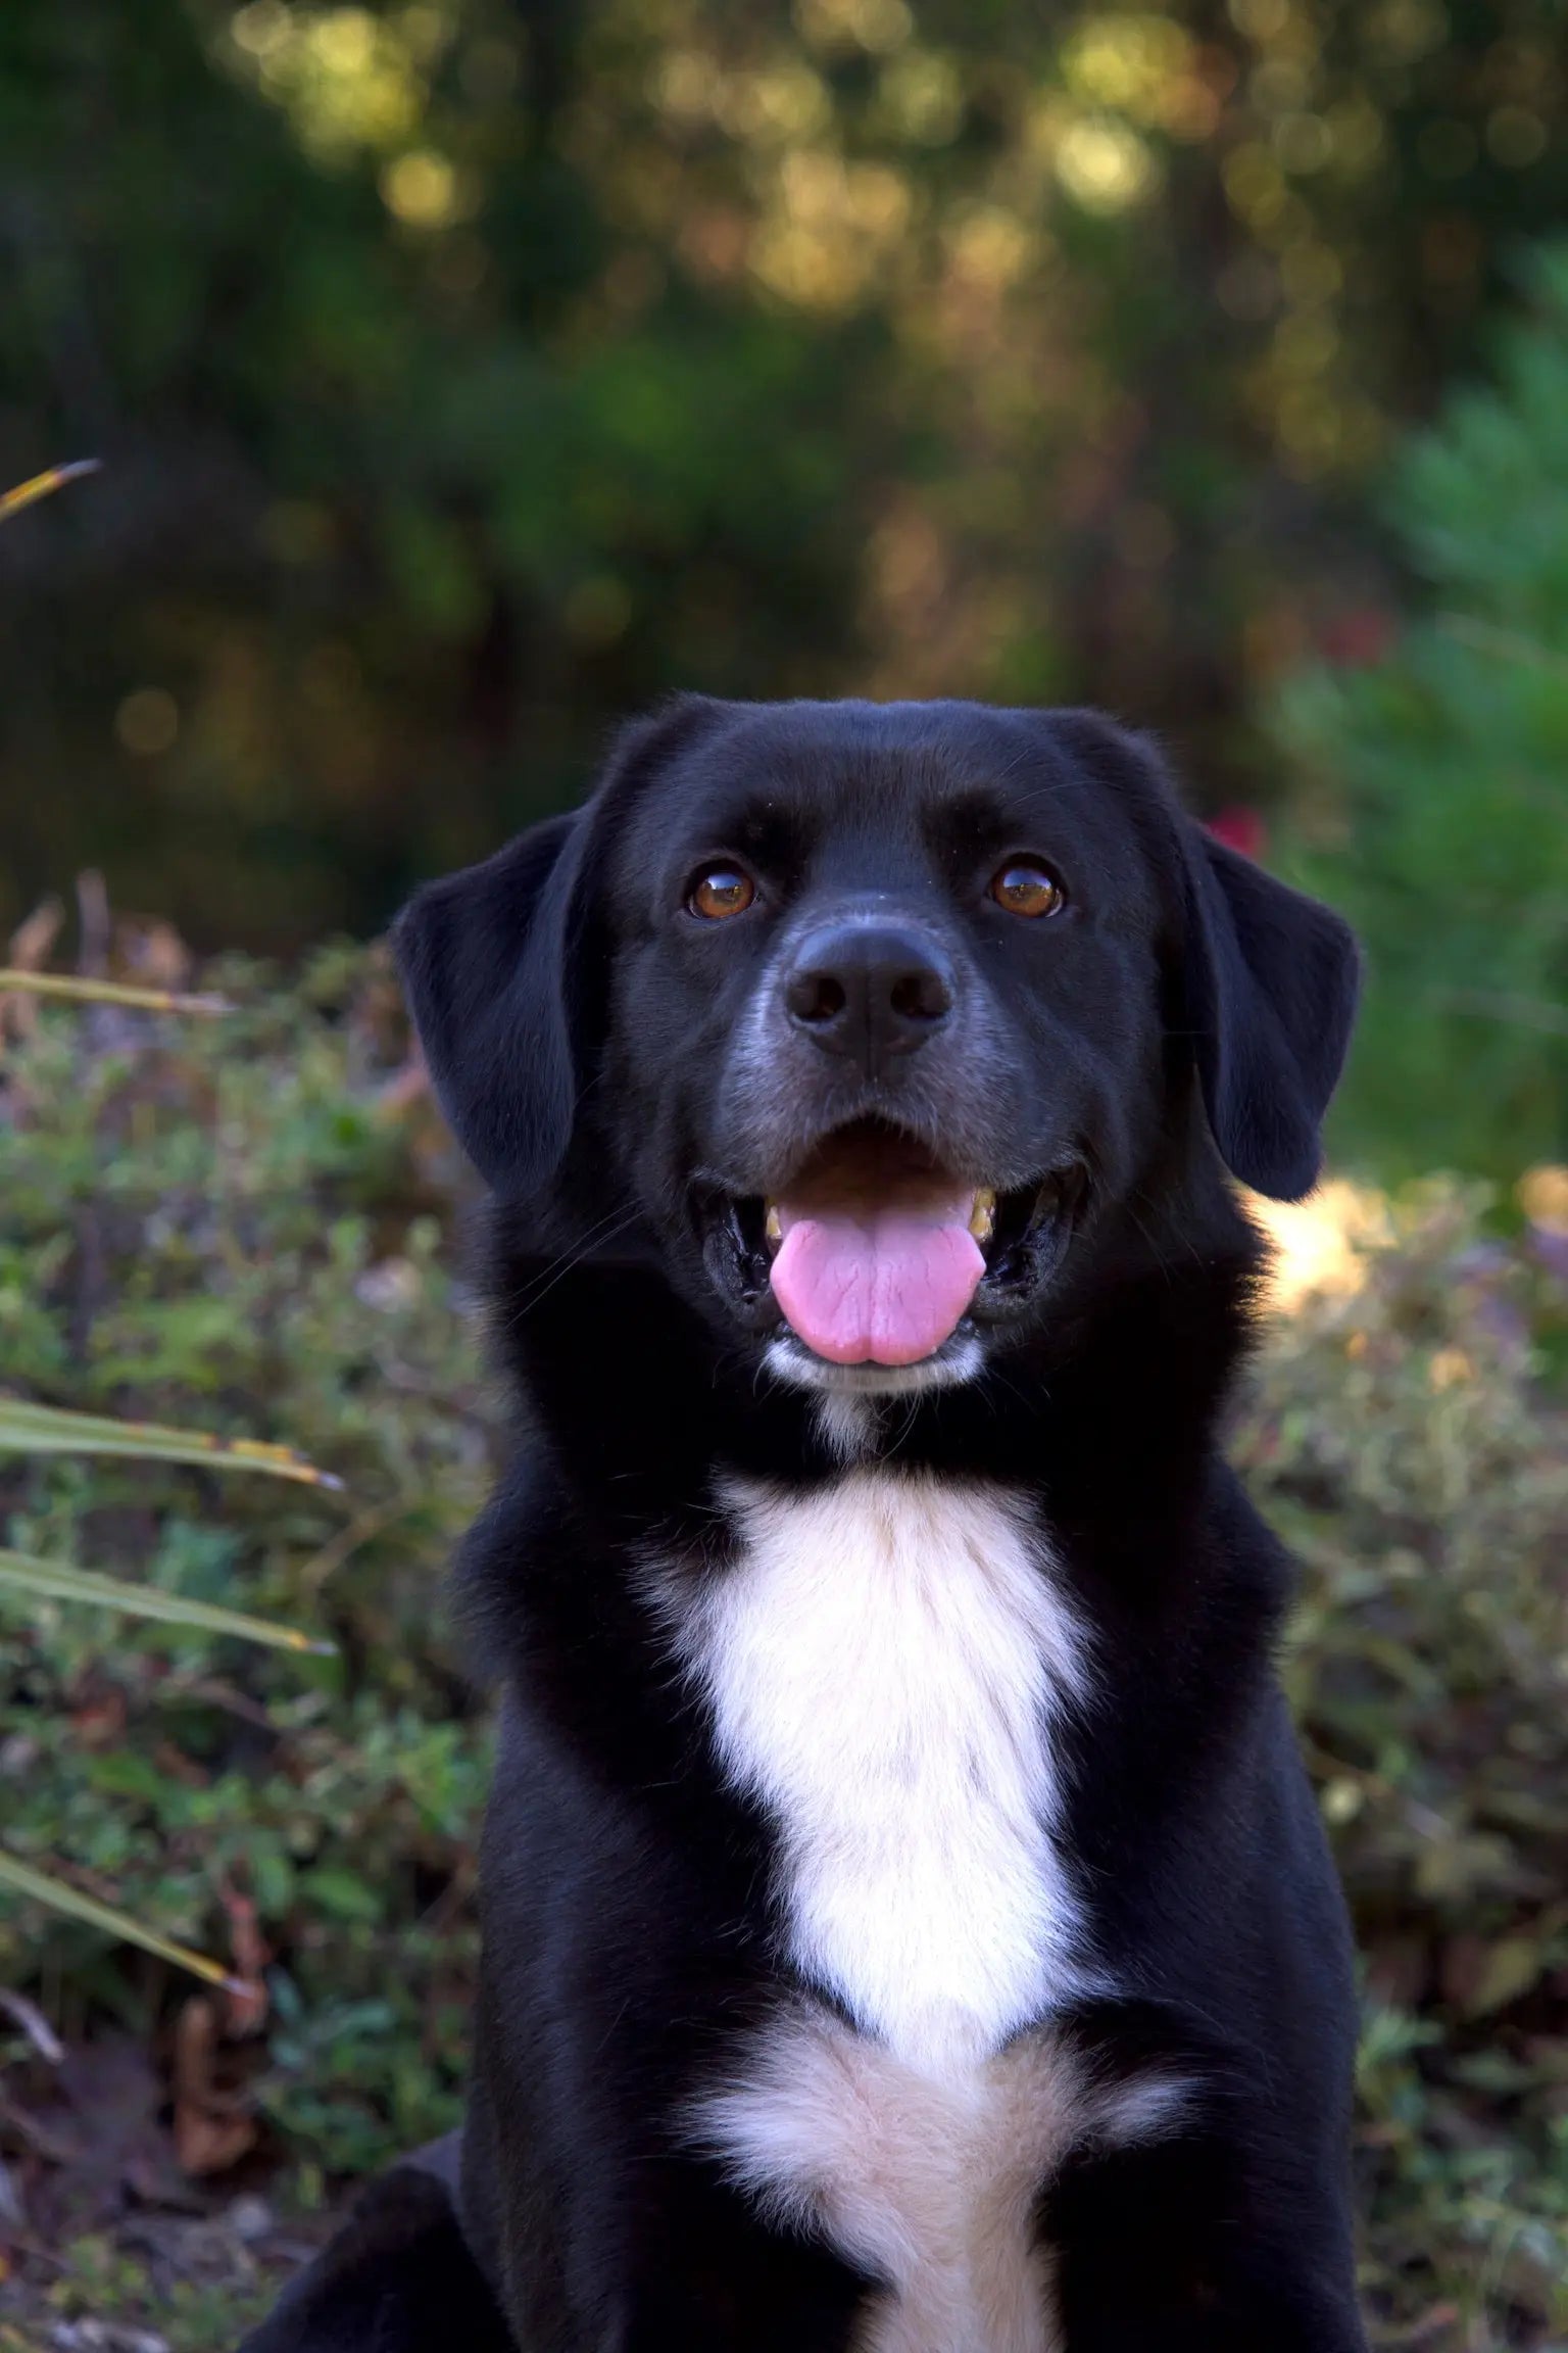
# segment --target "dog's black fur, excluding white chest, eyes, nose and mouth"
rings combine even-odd
[[[1025,849],[1065,878],[1063,918],[985,899]],[[762,896],[701,925],[686,882],[719,854]],[[867,887],[940,929],[966,1026],[851,1101],[748,1019],[780,925]],[[440,2221],[348,2242],[254,2353],[444,2353],[423,2289],[397,2318],[381,2297],[381,2334],[353,2318],[425,2245],[451,2308],[484,2278],[529,2353],[851,2346],[872,2282],[675,2132],[785,1965],[773,1828],[724,1784],[637,1562],[658,1544],[724,1574],[715,1468],[837,1473],[764,1369],[776,1311],[717,1205],[860,1113],[1058,1186],[1051,1233],[976,1301],[983,1372],[877,1414],[893,1471],[1039,1504],[1105,1685],[1060,1838],[1117,1986],[1058,2026],[1098,2071],[1206,2087],[1178,2139],[1041,2184],[1067,2353],[1359,2353],[1349,1941],[1272,1673],[1288,1560],[1218,1449],[1260,1264],[1227,1169],[1314,1181],[1347,929],[1211,842],[1093,713],[684,699],[576,816],[421,892],[397,946],[496,1193],[494,1339],[529,1409],[461,1560],[505,1689],[458,2200],[477,2268]]]

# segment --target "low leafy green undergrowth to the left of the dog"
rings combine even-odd
[[[256,2097],[350,2169],[456,2113],[484,1774],[430,1612],[487,1485],[487,1421],[447,1195],[378,1101],[400,1056],[388,972],[324,955],[301,995],[200,1033],[45,1014],[0,1115],[5,1381],[150,1419],[179,1405],[315,1447],[346,1482],[268,1504],[202,1468],[0,1457],[16,1551],[263,1612],[287,1595],[341,1649],[261,1661],[0,1591],[7,1847],[240,1974],[230,1906],[254,1906],[280,1953]],[[40,1972],[68,2031],[150,2024],[169,1993],[160,1967],[110,1967],[87,1929],[7,1897],[0,1977]]]

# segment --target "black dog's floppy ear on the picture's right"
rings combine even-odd
[[[1178,816],[1187,882],[1187,1016],[1208,1127],[1255,1193],[1300,1200],[1356,1016],[1361,960],[1333,908]]]

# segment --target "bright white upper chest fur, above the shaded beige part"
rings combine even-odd
[[[985,2061],[1079,1984],[1053,1727],[1088,1671],[1044,1534],[1006,1489],[870,1468],[724,1501],[738,1558],[677,1640],[778,1826],[790,1958],[900,2061]]]

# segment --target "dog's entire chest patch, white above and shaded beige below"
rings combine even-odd
[[[1034,2202],[1095,2129],[1037,2028],[1084,1984],[1053,1842],[1084,1633],[1004,1489],[860,1468],[724,1506],[738,1558],[663,1602],[724,1769],[778,1826],[788,1953],[856,2024],[783,2000],[693,2134],[884,2282],[858,2353],[1048,2353]]]

